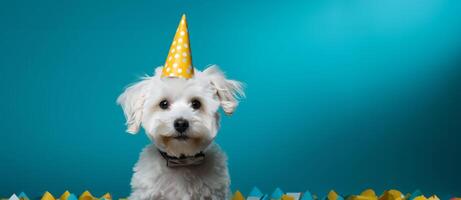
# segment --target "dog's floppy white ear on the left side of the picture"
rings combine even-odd
[[[150,85],[150,79],[143,80],[127,87],[117,98],[117,104],[122,106],[126,118],[127,132],[136,134],[139,131],[142,120],[142,109],[146,99],[146,90]]]

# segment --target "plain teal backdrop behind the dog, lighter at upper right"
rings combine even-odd
[[[217,142],[232,188],[461,195],[461,1],[1,1],[0,195],[127,196],[147,143],[122,89],[187,13],[194,65],[247,98]]]

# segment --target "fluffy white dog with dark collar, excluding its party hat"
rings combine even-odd
[[[230,178],[227,158],[213,143],[218,108],[232,114],[242,84],[227,80],[216,66],[195,69],[190,79],[146,77],[117,99],[127,132],[142,126],[153,144],[142,151],[131,179],[130,200],[226,199]]]

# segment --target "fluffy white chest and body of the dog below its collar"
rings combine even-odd
[[[203,164],[177,168],[146,148],[134,170],[130,199],[225,199],[229,190],[226,157],[218,147],[205,153]]]

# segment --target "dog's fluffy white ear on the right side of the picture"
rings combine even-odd
[[[210,80],[210,84],[216,89],[216,94],[224,112],[231,115],[239,104],[239,97],[245,97],[243,84],[239,81],[228,80],[218,66],[212,65],[203,73]]]

